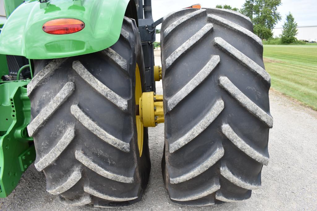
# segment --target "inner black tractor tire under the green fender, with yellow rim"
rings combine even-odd
[[[71,206],[140,201],[151,164],[147,129],[136,116],[145,70],[135,21],[125,17],[110,48],[34,65],[28,132],[47,191]]]

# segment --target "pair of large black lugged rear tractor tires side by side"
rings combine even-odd
[[[273,124],[252,23],[231,10],[185,9],[165,16],[161,36],[171,201],[248,199],[261,185]],[[145,92],[145,71],[134,20],[125,18],[119,41],[101,52],[34,64],[28,131],[47,190],[73,206],[139,201],[151,164],[147,128],[138,141],[136,80]]]

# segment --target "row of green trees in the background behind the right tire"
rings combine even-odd
[[[277,11],[281,0],[246,0],[242,8],[232,8],[230,5],[216,5],[216,8],[235,10],[248,16],[253,23],[253,30],[262,40],[273,37],[272,29],[281,20],[281,14]],[[289,12],[280,35],[281,43],[296,42],[297,23],[294,16]]]

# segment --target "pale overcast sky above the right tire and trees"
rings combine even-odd
[[[158,20],[166,14],[200,3],[202,7],[216,7],[217,4],[229,4],[241,8],[245,0],[152,0],[153,19]],[[282,0],[278,11],[282,20],[275,27],[281,27],[286,15],[291,12],[299,26],[317,25],[317,0]],[[161,25],[158,26],[161,28]]]

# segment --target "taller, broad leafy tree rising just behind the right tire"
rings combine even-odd
[[[253,30],[261,39],[273,36],[272,29],[281,20],[277,7],[281,0],[246,0],[240,12],[253,22]]]

